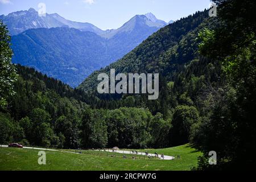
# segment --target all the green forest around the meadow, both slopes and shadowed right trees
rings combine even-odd
[[[0,143],[162,148],[190,142],[204,153],[195,169],[250,169],[256,152],[256,2],[213,2],[217,17],[205,10],[160,29],[77,89],[12,65],[1,24]],[[111,68],[160,73],[159,99],[97,94],[98,73]],[[210,166],[213,150],[217,165]]]

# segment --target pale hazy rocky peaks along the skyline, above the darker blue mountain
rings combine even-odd
[[[137,15],[137,16],[146,16],[144,18],[144,24],[148,27],[163,27],[167,23],[163,20],[159,20],[152,13],[146,15]],[[90,23],[80,23],[73,22],[61,17],[58,14],[46,14],[46,16],[39,16],[38,12],[35,9],[29,9],[28,11],[17,11],[10,13],[9,15],[1,15],[0,19],[3,20],[3,23],[7,24],[11,35],[20,34],[23,31],[26,31],[31,28],[56,28],[56,27],[69,27],[76,28],[81,31],[90,31],[94,32],[97,35],[101,35],[105,38],[111,38],[119,32],[129,32],[134,27],[137,19],[137,16],[134,16],[129,22],[125,23],[121,28],[117,30],[107,30],[103,31],[100,28],[94,26]]]

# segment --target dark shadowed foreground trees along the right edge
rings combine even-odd
[[[193,143],[204,152],[199,169],[253,169],[256,152],[256,2],[214,0],[218,24],[200,32],[201,55],[222,65],[220,81],[205,93],[204,121]],[[207,114],[208,113],[208,114]],[[217,165],[208,163],[217,152]]]

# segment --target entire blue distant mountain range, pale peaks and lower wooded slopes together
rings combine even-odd
[[[93,71],[133,50],[167,25],[152,13],[135,15],[116,30],[72,22],[34,9],[1,15],[12,37],[13,62],[34,67],[75,87]]]

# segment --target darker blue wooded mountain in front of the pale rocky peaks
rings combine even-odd
[[[13,63],[33,67],[71,86],[110,63],[105,39],[75,28],[27,30],[13,36],[12,44]]]

